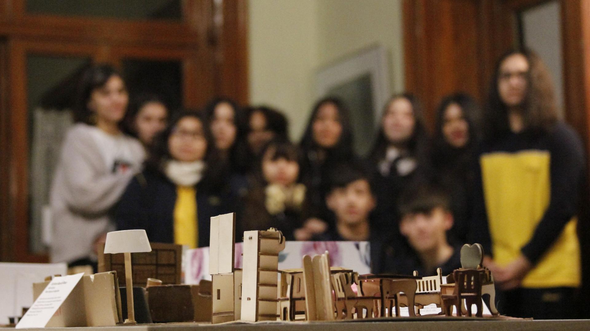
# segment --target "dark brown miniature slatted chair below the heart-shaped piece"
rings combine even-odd
[[[483,316],[481,301],[481,280],[485,277],[483,269],[457,269],[453,272],[453,284],[441,284],[441,298],[445,315],[453,315],[453,306],[457,307],[457,316],[462,315],[465,300],[467,316],[471,316],[471,305],[477,307],[477,317]]]

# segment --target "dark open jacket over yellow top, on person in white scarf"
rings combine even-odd
[[[200,183],[196,186],[199,247],[209,246],[211,217],[230,213],[234,199],[230,193],[211,193]],[[133,178],[116,212],[117,230],[144,229],[148,239],[158,243],[174,242],[176,185],[158,171],[144,170]]]

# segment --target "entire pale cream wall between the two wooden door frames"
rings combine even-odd
[[[299,140],[318,68],[380,44],[404,89],[401,0],[250,0],[250,102],[283,110]]]

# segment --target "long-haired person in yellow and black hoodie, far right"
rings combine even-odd
[[[484,264],[503,292],[501,313],[575,317],[581,140],[558,121],[549,72],[533,52],[504,55],[490,87],[471,238],[491,253]]]

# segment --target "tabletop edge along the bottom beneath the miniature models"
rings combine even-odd
[[[2,331],[14,330],[4,329]],[[21,329],[39,331],[40,329]],[[51,331],[378,331],[378,330],[435,330],[435,331],[549,331],[549,330],[590,330],[590,320],[501,320],[463,317],[397,317],[395,321],[360,322],[268,322],[268,323],[226,323],[207,325],[198,323],[168,323],[155,325],[116,327],[68,327]]]

